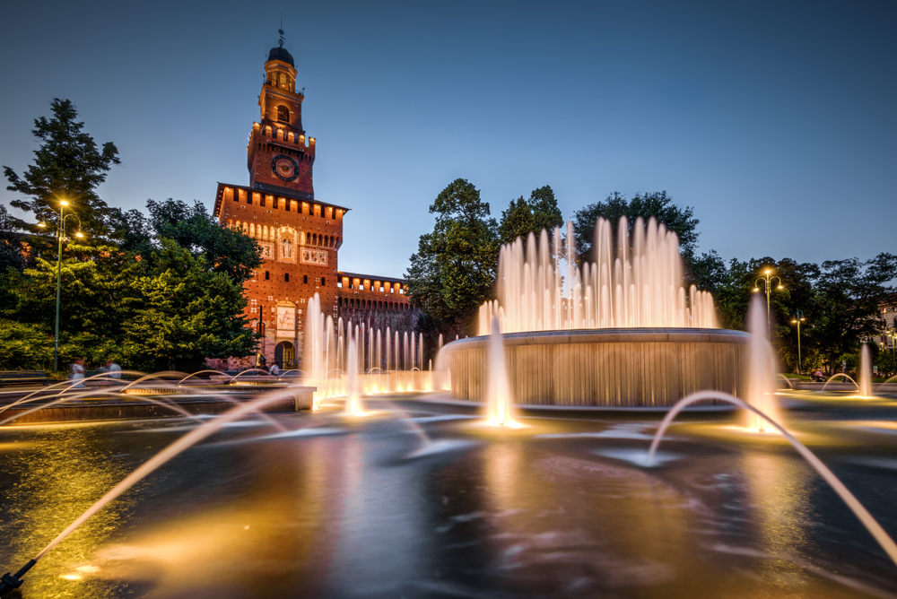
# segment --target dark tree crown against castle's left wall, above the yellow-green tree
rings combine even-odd
[[[146,207],[150,218],[143,225],[136,214],[128,213],[126,218],[135,241],[143,226],[144,235],[152,230],[157,239],[173,239],[193,256],[205,255],[206,264],[213,271],[226,273],[238,282],[247,281],[252,271],[262,265],[257,241],[241,230],[222,227],[204,204],[189,206],[169,198],[164,202],[149,200]]]

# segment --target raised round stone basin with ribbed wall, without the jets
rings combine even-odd
[[[503,337],[517,404],[672,406],[708,389],[745,396],[750,335],[740,331],[579,329]],[[488,339],[468,337],[443,348],[452,397],[485,400]]]

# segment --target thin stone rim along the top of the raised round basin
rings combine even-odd
[[[527,331],[502,335],[505,347],[570,343],[736,343],[747,344],[751,335],[724,328],[605,328]],[[446,344],[443,352],[485,348],[488,335],[466,337]]]

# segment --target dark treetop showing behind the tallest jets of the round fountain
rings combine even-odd
[[[629,221],[629,234],[635,228],[635,220],[641,216],[648,221],[654,217],[658,222],[664,223],[667,230],[672,230],[679,237],[679,252],[689,263],[694,256],[698,245],[698,223],[694,218],[694,210],[691,206],[681,207],[673,203],[673,198],[666,195],[666,191],[650,194],[636,194],[631,201],[619,192],[614,191],[608,195],[604,202],[588,204],[585,208],[573,213],[573,237],[576,242],[576,253],[579,264],[584,261],[594,261],[592,256],[592,243],[595,239],[595,221],[598,217],[611,221],[614,232],[617,230],[621,217],[625,216]]]

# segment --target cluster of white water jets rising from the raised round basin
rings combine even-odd
[[[713,298],[692,285],[686,293],[679,239],[650,218],[632,231],[620,219],[616,238],[610,221],[599,218],[592,255],[576,265],[572,223],[567,223],[566,276],[558,260],[561,230],[553,246],[543,230],[501,247],[497,300],[480,307],[479,334],[489,334],[492,317],[503,333],[579,328],[716,328]]]

